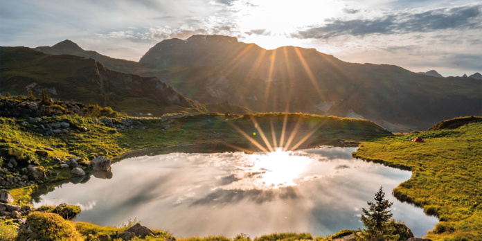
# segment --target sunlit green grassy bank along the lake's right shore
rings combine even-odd
[[[362,142],[353,157],[412,171],[393,195],[439,218],[427,238],[482,240],[481,122]]]

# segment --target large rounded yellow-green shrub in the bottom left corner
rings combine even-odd
[[[33,212],[27,216],[27,223],[21,229],[17,240],[82,240],[73,222],[64,220],[55,213]]]

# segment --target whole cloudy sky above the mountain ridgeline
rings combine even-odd
[[[163,39],[229,35],[316,48],[346,62],[482,73],[482,1],[0,0],[0,46],[52,46],[139,61]]]

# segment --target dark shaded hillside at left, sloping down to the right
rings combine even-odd
[[[75,46],[62,42],[53,49],[72,50]],[[0,66],[2,94],[26,95],[31,90],[38,97],[42,89],[47,89],[51,97],[59,100],[111,106],[128,114],[161,115],[204,108],[159,78],[111,71],[100,62],[84,57],[47,55],[24,47],[0,47]]]

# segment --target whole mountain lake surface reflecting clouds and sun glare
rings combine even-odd
[[[395,220],[424,236],[438,222],[398,202],[391,190],[411,172],[353,159],[356,148],[294,152],[170,153],[124,159],[113,177],[62,184],[35,206],[80,205],[78,221],[116,226],[128,219],[179,238],[297,231],[329,235],[363,228],[362,208],[384,187]],[[102,175],[97,175],[98,177]]]

